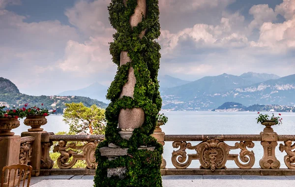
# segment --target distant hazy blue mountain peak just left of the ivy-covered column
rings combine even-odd
[[[106,86],[103,86],[99,84],[98,82],[95,82],[91,84],[89,87],[79,89],[79,90],[73,90],[73,91],[66,91],[62,92],[58,95],[66,96],[66,95],[76,95],[76,96],[85,96],[92,99],[97,99],[99,101],[103,101],[105,103],[109,103],[110,101],[106,99],[108,88]]]

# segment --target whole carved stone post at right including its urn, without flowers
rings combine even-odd
[[[264,156],[259,161],[259,165],[262,169],[279,169],[281,164],[280,161],[275,157],[275,147],[278,145],[278,134],[271,128],[271,125],[275,125],[275,123],[273,124],[273,122],[263,122],[262,125],[266,125],[263,132],[260,132]]]

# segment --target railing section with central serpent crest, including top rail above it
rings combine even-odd
[[[226,169],[227,160],[234,160],[241,169],[250,169],[255,163],[253,141],[261,140],[260,135],[166,135],[165,141],[173,141],[173,148],[179,148],[172,153],[172,164],[177,169],[187,168],[192,160],[199,160],[200,168]],[[202,141],[192,145],[188,141]],[[238,141],[233,146],[224,141]],[[230,154],[231,150],[240,149],[239,155]],[[195,154],[187,154],[186,150],[195,150]],[[243,162],[241,163],[239,159]]]

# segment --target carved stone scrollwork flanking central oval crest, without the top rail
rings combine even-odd
[[[200,168],[210,169],[215,171],[215,169],[225,169],[227,160],[234,160],[236,165],[242,169],[249,169],[253,167],[255,162],[255,156],[253,151],[247,150],[248,148],[253,148],[253,142],[243,142],[236,143],[235,146],[229,146],[223,141],[212,139],[203,141],[196,146],[192,146],[191,143],[186,142],[173,142],[173,147],[179,150],[173,151],[172,153],[172,163],[177,169],[187,168],[192,160],[200,160]],[[196,150],[196,154],[186,154],[185,150]],[[231,150],[241,149],[240,154],[229,154]],[[242,162],[247,162],[242,164],[238,160],[238,156]]]

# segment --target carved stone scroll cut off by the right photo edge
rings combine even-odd
[[[287,140],[287,141],[284,141],[284,144],[280,144],[280,151],[281,152],[286,152],[287,155],[284,156],[284,161],[285,161],[285,164],[286,166],[289,168],[289,169],[295,169],[295,151],[292,151],[295,149],[295,143],[292,145],[292,141],[291,140]]]

